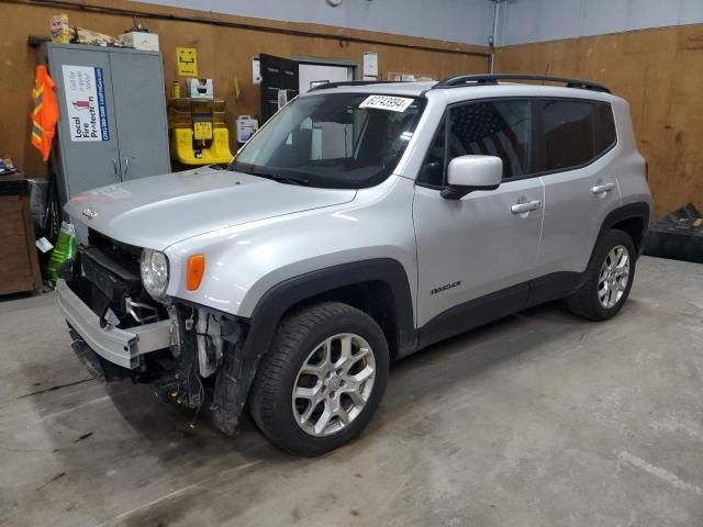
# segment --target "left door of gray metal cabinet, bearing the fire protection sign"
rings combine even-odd
[[[120,180],[110,59],[87,46],[49,44],[46,49],[60,112],[57,187],[65,203]]]

